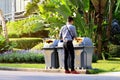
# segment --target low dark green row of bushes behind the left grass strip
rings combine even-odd
[[[43,54],[14,52],[1,54],[0,63],[45,63],[45,61]]]

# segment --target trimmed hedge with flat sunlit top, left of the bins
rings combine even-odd
[[[35,45],[43,42],[41,38],[10,38],[10,41],[15,43],[15,48],[18,49],[31,49]]]

